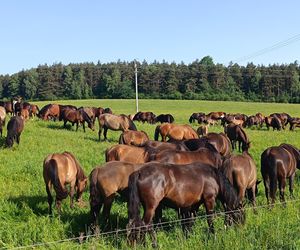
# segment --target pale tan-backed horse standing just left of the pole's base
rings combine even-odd
[[[121,130],[134,130],[137,131],[135,124],[125,115],[113,115],[113,114],[102,114],[99,116],[99,141],[101,138],[102,128],[104,129],[103,135],[104,140],[107,140],[107,130],[111,129],[114,131]]]

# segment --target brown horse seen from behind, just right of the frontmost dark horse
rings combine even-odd
[[[242,155],[231,155],[223,162],[221,171],[236,189],[240,202],[247,191],[248,198],[255,207],[257,173],[255,162],[248,151],[244,151]]]

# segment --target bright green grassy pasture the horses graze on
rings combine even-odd
[[[34,102],[39,107],[48,102]],[[77,100],[57,101],[60,104],[80,106],[110,107],[116,114],[134,114],[135,100]],[[208,101],[171,101],[171,100],[140,100],[139,110],[152,111],[156,115],[170,113],[175,123],[188,124],[193,112],[224,111],[231,113],[255,114],[262,112],[268,115],[273,112],[287,112],[291,116],[300,117],[300,105],[276,103],[238,103]],[[8,121],[8,120],[7,120]],[[135,122],[138,130],[144,130],[153,139],[156,125]],[[199,125],[193,124],[197,129]],[[260,155],[267,147],[290,143],[300,147],[300,129],[289,131],[269,131],[251,128],[245,129],[251,141],[250,154],[253,156],[260,174]],[[221,132],[220,125],[210,127],[209,132]],[[42,176],[44,158],[53,152],[72,152],[81,163],[85,174],[89,175],[95,166],[105,162],[105,150],[118,143],[120,131],[107,133],[108,141],[98,141],[98,124],[96,130],[82,127],[75,131],[74,127],[63,122],[42,121],[38,118],[25,124],[20,145],[12,149],[4,148],[5,137],[0,138],[0,248],[30,246],[38,243],[39,248],[101,248],[128,249],[126,242],[127,206],[120,199],[113,203],[111,225],[108,231],[99,237],[87,237],[79,244],[76,238],[80,232],[89,235],[89,191],[83,194],[85,204],[69,208],[69,199],[62,203],[62,215],[48,216],[47,195]],[[6,128],[3,135],[6,136]],[[235,152],[236,153],[236,152]],[[224,216],[215,218],[215,235],[208,234],[205,211],[200,207],[199,218],[190,237],[185,239],[177,221],[176,213],[171,209],[163,212],[164,224],[158,229],[158,244],[161,249],[296,249],[300,247],[300,178],[296,173],[294,195],[289,198],[286,188],[287,207],[280,204],[270,210],[266,206],[264,187],[258,187],[257,213],[250,204],[246,205],[246,223],[243,226],[224,228]],[[279,196],[277,196],[279,202]],[[100,216],[101,223],[101,216]],[[117,230],[118,229],[118,230]],[[146,248],[151,248],[149,243]]]

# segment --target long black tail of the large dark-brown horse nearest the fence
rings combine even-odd
[[[128,180],[128,193],[129,193],[129,201],[128,201],[128,219],[129,223],[127,225],[128,229],[128,238],[136,239],[137,230],[141,230],[141,228],[137,229],[137,227],[141,227],[144,225],[140,213],[139,208],[141,205],[139,191],[137,187],[137,182],[139,179],[139,171],[132,173],[129,176]]]

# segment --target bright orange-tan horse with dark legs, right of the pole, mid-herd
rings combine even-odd
[[[162,141],[166,141],[166,137],[175,140],[187,140],[199,138],[197,132],[189,125],[178,125],[173,123],[163,123],[155,129],[154,140],[158,140],[159,134]]]

